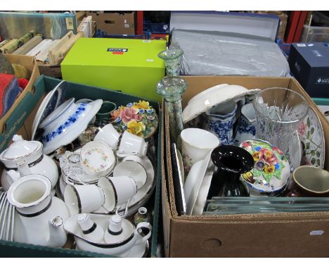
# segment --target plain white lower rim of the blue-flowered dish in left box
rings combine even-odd
[[[89,122],[92,120],[93,116],[96,115],[96,113],[99,111],[102,104],[103,100],[101,99],[89,103],[87,106],[88,109],[86,109],[86,111],[79,115],[79,118],[77,118],[77,121],[75,121],[74,124],[67,127],[65,129],[65,132],[58,134],[50,142],[44,144],[44,154],[50,154],[54,150],[60,148],[60,146],[70,144],[73,140],[77,139],[77,137],[79,137],[79,135],[84,130],[86,130],[86,127],[88,127]]]

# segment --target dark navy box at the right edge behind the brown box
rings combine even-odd
[[[329,48],[322,42],[290,47],[290,71],[312,97],[329,98]]]

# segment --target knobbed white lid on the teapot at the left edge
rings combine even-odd
[[[22,139],[21,135],[13,136],[13,143],[0,154],[1,161],[13,161],[17,158],[31,156],[42,148],[41,142],[27,141]]]

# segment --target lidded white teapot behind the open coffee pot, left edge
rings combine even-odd
[[[20,177],[39,174],[48,177],[52,189],[58,181],[58,168],[52,158],[42,154],[43,145],[38,141],[27,141],[15,134],[13,143],[0,154],[5,169],[1,174],[1,185],[8,190]]]

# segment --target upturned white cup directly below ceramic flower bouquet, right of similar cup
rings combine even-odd
[[[148,142],[142,137],[138,137],[135,134],[124,131],[122,134],[119,149],[117,150],[117,156],[120,158],[127,157],[129,155],[136,155],[140,158],[144,158],[148,151]]]

